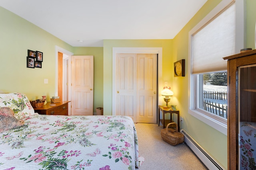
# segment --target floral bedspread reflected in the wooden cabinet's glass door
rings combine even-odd
[[[240,170],[256,170],[256,123],[240,122]]]

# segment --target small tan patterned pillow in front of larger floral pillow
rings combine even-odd
[[[20,127],[24,121],[17,120],[14,117],[14,112],[10,107],[0,107],[0,133],[9,129]]]

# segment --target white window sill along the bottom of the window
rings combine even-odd
[[[216,129],[217,131],[223,133],[224,135],[227,135],[227,124],[220,122],[216,119],[212,119],[212,117],[202,114],[199,111],[196,110],[191,110],[188,109],[188,113],[190,113],[190,115],[196,117],[197,119],[199,119],[200,121],[206,123],[207,125],[209,125],[210,127]]]

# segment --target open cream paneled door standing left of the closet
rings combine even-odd
[[[93,115],[93,56],[72,56],[71,70],[71,115]]]

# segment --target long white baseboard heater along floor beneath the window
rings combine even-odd
[[[209,170],[226,170],[215,158],[213,158],[204,148],[202,148],[186,131],[180,132],[184,135],[184,141],[191,150],[198,156]]]

